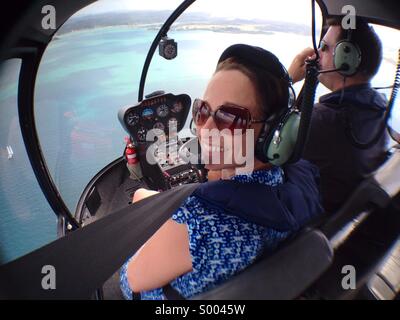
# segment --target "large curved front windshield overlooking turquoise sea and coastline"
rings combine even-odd
[[[52,178],[72,212],[90,179],[122,155],[127,133],[118,110],[137,103],[150,45],[180,3],[98,1],[72,16],[49,44],[37,76],[35,117]],[[318,7],[316,18],[318,40]],[[379,86],[391,85],[394,78],[391,37],[398,32],[387,32],[385,59],[373,83]],[[311,5],[308,0],[198,0],[168,37],[178,43],[178,56],[166,60],[156,51],[144,93],[187,93],[193,100],[202,96],[219,55],[233,43],[264,47],[288,67],[301,49],[312,46]],[[300,88],[296,84],[297,92]],[[319,86],[317,96],[324,93]],[[394,118],[399,121],[398,111]]]

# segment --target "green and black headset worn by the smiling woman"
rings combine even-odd
[[[262,162],[283,165],[293,154],[297,142],[300,113],[293,108],[295,101],[291,78],[279,59],[271,52],[254,46],[236,44],[227,48],[218,63],[230,57],[265,69],[288,85],[288,107],[280,114],[272,115],[264,123],[255,145],[255,156]]]

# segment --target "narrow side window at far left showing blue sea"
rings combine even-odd
[[[20,59],[0,64],[0,264],[57,235],[57,219],[37,183],[19,126],[20,69]]]

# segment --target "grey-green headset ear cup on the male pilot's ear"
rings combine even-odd
[[[333,64],[335,69],[344,76],[352,76],[357,73],[361,63],[361,51],[358,46],[348,40],[339,41],[333,52]]]

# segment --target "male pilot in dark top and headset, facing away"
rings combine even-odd
[[[303,154],[320,170],[323,206],[329,213],[337,211],[357,185],[383,163],[387,145],[387,136],[380,131],[387,102],[370,84],[382,60],[381,41],[361,19],[354,30],[343,29],[340,22],[328,20],[318,50],[319,69],[337,71],[319,75],[331,93],[314,106]],[[288,69],[294,83],[304,79],[306,60],[312,58],[312,48],[294,58]],[[379,139],[366,147],[375,135]]]

